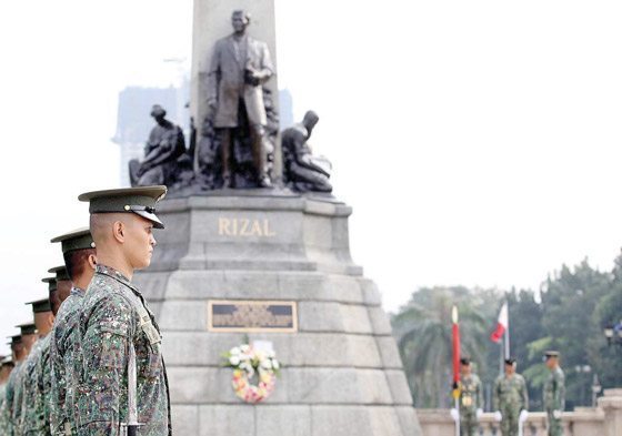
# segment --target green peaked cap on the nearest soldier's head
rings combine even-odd
[[[164,224],[156,215],[156,203],[167,195],[167,186],[122,187],[86,192],[78,200],[89,202],[89,213],[136,213],[153,223],[156,229]]]

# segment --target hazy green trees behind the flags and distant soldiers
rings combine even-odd
[[[541,409],[549,371],[543,352],[559,349],[566,375],[566,407],[590,406],[598,375],[604,388],[622,387],[622,346],[608,346],[602,329],[622,318],[622,256],[611,273],[588,261],[562,265],[543,291],[421,288],[392,316],[393,331],[417,407],[448,407],[451,385],[451,306],[460,312],[463,354],[478,366],[484,386],[500,373],[500,345],[489,341],[503,301],[510,315],[511,354],[525,376],[530,408]],[[490,404],[490,397],[486,398]]]

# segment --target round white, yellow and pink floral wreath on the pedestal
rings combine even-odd
[[[231,386],[240,399],[257,404],[274,391],[281,365],[273,351],[264,352],[242,344],[224,353],[223,357],[227,359],[224,366],[233,368]],[[253,384],[255,376],[258,383]]]

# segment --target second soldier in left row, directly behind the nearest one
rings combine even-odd
[[[52,435],[77,434],[76,377],[82,357],[74,346],[80,306],[96,268],[94,242],[89,227],[78,229],[54,237],[60,242],[68,276],[73,283],[71,294],[62,303],[51,333],[51,391],[50,423]]]

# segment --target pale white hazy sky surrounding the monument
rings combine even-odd
[[[231,1],[232,9],[235,2]],[[354,207],[354,261],[418,286],[538,288],[622,244],[622,3],[277,0],[279,83]],[[0,335],[46,294],[76,201],[119,184],[118,93],[169,85],[189,0],[0,6]],[[251,28],[252,33],[252,28]],[[0,352],[6,347],[0,347]]]

